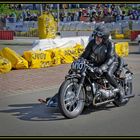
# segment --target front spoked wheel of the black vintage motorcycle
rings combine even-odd
[[[82,88],[77,98],[79,88],[78,80],[64,81],[58,95],[58,105],[66,118],[75,118],[81,114],[85,104],[85,91]]]

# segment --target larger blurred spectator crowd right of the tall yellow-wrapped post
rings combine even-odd
[[[57,16],[54,13],[54,16]],[[88,8],[79,8],[73,12],[66,9],[60,12],[60,21],[86,21],[86,22],[117,22],[119,20],[140,19],[140,9],[125,11],[115,4],[94,4]]]

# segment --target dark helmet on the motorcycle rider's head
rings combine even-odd
[[[102,37],[104,41],[109,39],[109,32],[105,29],[104,26],[97,26],[93,32],[94,36]]]

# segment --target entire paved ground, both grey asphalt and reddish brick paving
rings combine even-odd
[[[135,97],[126,106],[88,109],[75,119],[37,101],[58,91],[69,64],[0,76],[0,136],[140,136],[140,55],[125,59],[134,72]]]

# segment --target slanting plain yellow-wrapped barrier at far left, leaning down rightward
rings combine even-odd
[[[15,69],[28,68],[28,62],[19,54],[17,54],[14,50],[11,50],[8,47],[3,48],[1,50],[1,56],[8,59],[11,62],[12,68],[15,68]]]

